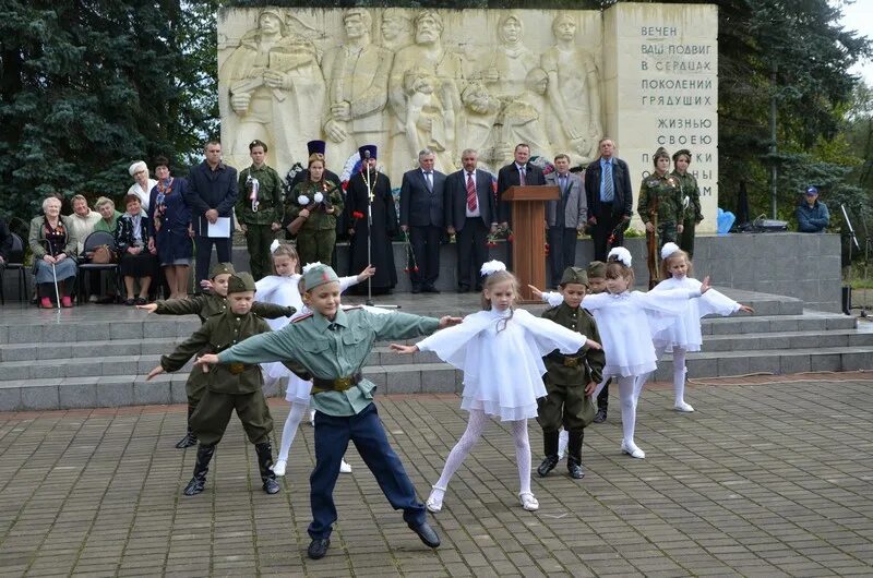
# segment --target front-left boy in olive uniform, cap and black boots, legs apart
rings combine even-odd
[[[164,372],[180,370],[201,351],[222,351],[248,337],[270,332],[266,322],[251,311],[254,291],[254,279],[251,275],[232,275],[227,281],[229,310],[206,320],[172,353],[162,357],[160,365],[148,372],[146,381]],[[203,371],[201,368],[195,369]],[[273,418],[264,399],[263,384],[261,368],[256,364],[230,363],[217,365],[208,372],[206,390],[191,416],[194,431],[200,436],[200,446],[194,475],[188,482],[184,495],[192,496],[203,492],[210,460],[235,409],[249,441],[254,444],[264,492],[275,494],[279,491],[276,474],[273,473],[273,448],[270,445]]]

